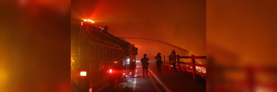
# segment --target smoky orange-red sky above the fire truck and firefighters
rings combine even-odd
[[[153,39],[173,44],[192,55],[206,55],[205,0],[72,0],[71,23],[80,23],[82,19],[92,19],[100,27],[108,25],[108,32],[116,37]],[[156,41],[129,38],[127,41],[139,47],[139,55],[157,52],[169,55],[177,49]]]

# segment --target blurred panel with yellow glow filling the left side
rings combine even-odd
[[[1,92],[69,92],[70,1],[2,0],[0,10]]]

